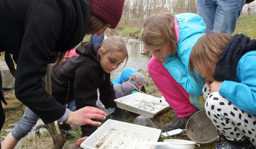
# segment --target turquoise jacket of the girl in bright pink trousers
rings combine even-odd
[[[164,57],[163,65],[169,71],[172,77],[186,89],[189,94],[202,96],[202,89],[205,82],[196,72],[196,77],[201,83],[196,82],[188,74],[188,61],[193,45],[206,30],[203,18],[195,13],[180,13],[175,15],[178,21],[179,41],[176,48],[176,54]]]

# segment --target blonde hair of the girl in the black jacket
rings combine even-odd
[[[107,54],[107,53],[114,53],[114,52],[122,52],[124,55],[127,56],[126,62],[124,66],[127,64],[128,61],[128,51],[127,51],[127,46],[124,42],[124,40],[121,37],[118,36],[110,36],[107,39],[102,41],[102,46],[103,48],[103,53],[101,56]]]

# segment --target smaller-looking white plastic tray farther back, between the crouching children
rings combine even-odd
[[[165,99],[140,92],[114,99],[114,101],[120,109],[148,116],[149,118],[154,118],[154,116],[170,108]]]

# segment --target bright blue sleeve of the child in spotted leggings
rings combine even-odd
[[[237,77],[240,82],[224,81],[220,95],[239,109],[256,115],[256,55],[242,57],[238,62]]]

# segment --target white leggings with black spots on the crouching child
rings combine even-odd
[[[256,148],[256,116],[242,111],[218,92],[206,100],[206,114],[228,140],[239,141],[245,137]]]

